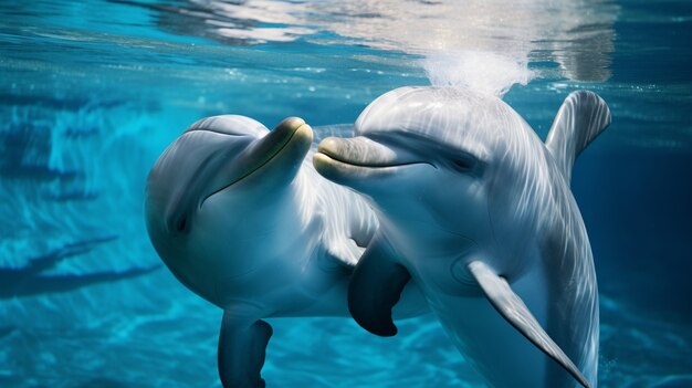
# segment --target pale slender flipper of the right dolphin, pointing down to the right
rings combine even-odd
[[[512,291],[504,277],[497,275],[482,261],[469,263],[469,271],[481,285],[490,303],[503,318],[543,353],[565,368],[581,386],[590,387],[581,371],[541,327],[538,321],[531,314],[521,297]]]

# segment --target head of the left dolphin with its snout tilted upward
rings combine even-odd
[[[262,233],[248,209],[256,207],[261,218],[263,203],[281,197],[312,139],[297,117],[270,132],[251,118],[224,115],[195,123],[164,151],[147,179],[146,223],[180,282],[218,304],[220,279],[258,265],[251,255],[235,254],[245,235]]]

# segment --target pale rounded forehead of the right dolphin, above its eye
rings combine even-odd
[[[523,123],[492,95],[453,87],[400,87],[366,107],[355,134],[385,140],[423,137],[487,160]]]

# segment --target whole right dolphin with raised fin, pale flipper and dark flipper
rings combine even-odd
[[[575,92],[544,144],[495,96],[402,87],[366,107],[354,138],[322,140],[317,171],[380,221],[352,279],[354,318],[395,335],[412,279],[491,386],[596,387],[596,273],[569,179],[609,123],[599,96]]]

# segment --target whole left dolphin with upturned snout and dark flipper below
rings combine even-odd
[[[355,192],[322,178],[313,129],[297,117],[274,130],[224,115],[190,126],[146,186],[154,248],[188,289],[223,308],[224,387],[264,387],[271,326],[284,316],[349,316],[348,280],[378,229]],[[397,316],[428,310],[412,287]]]

